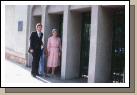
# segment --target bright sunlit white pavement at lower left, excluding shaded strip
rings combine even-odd
[[[31,76],[30,71],[22,68],[18,63],[6,60],[5,82],[6,83],[42,83],[38,78]],[[45,81],[46,82],[46,81]]]

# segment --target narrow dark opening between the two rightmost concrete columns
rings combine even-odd
[[[90,12],[82,13],[81,51],[80,51],[80,77],[88,76],[89,44],[90,44]]]

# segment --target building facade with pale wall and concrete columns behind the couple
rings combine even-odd
[[[31,66],[29,37],[41,22],[45,46],[53,28],[62,39],[61,79],[87,76],[88,83],[111,82],[113,73],[124,73],[124,12],[118,5],[8,5],[6,53],[16,52]]]

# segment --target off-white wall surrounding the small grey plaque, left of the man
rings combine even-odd
[[[5,47],[21,53],[25,58],[27,6],[10,6],[5,8]],[[23,21],[23,31],[18,32],[18,21]]]

